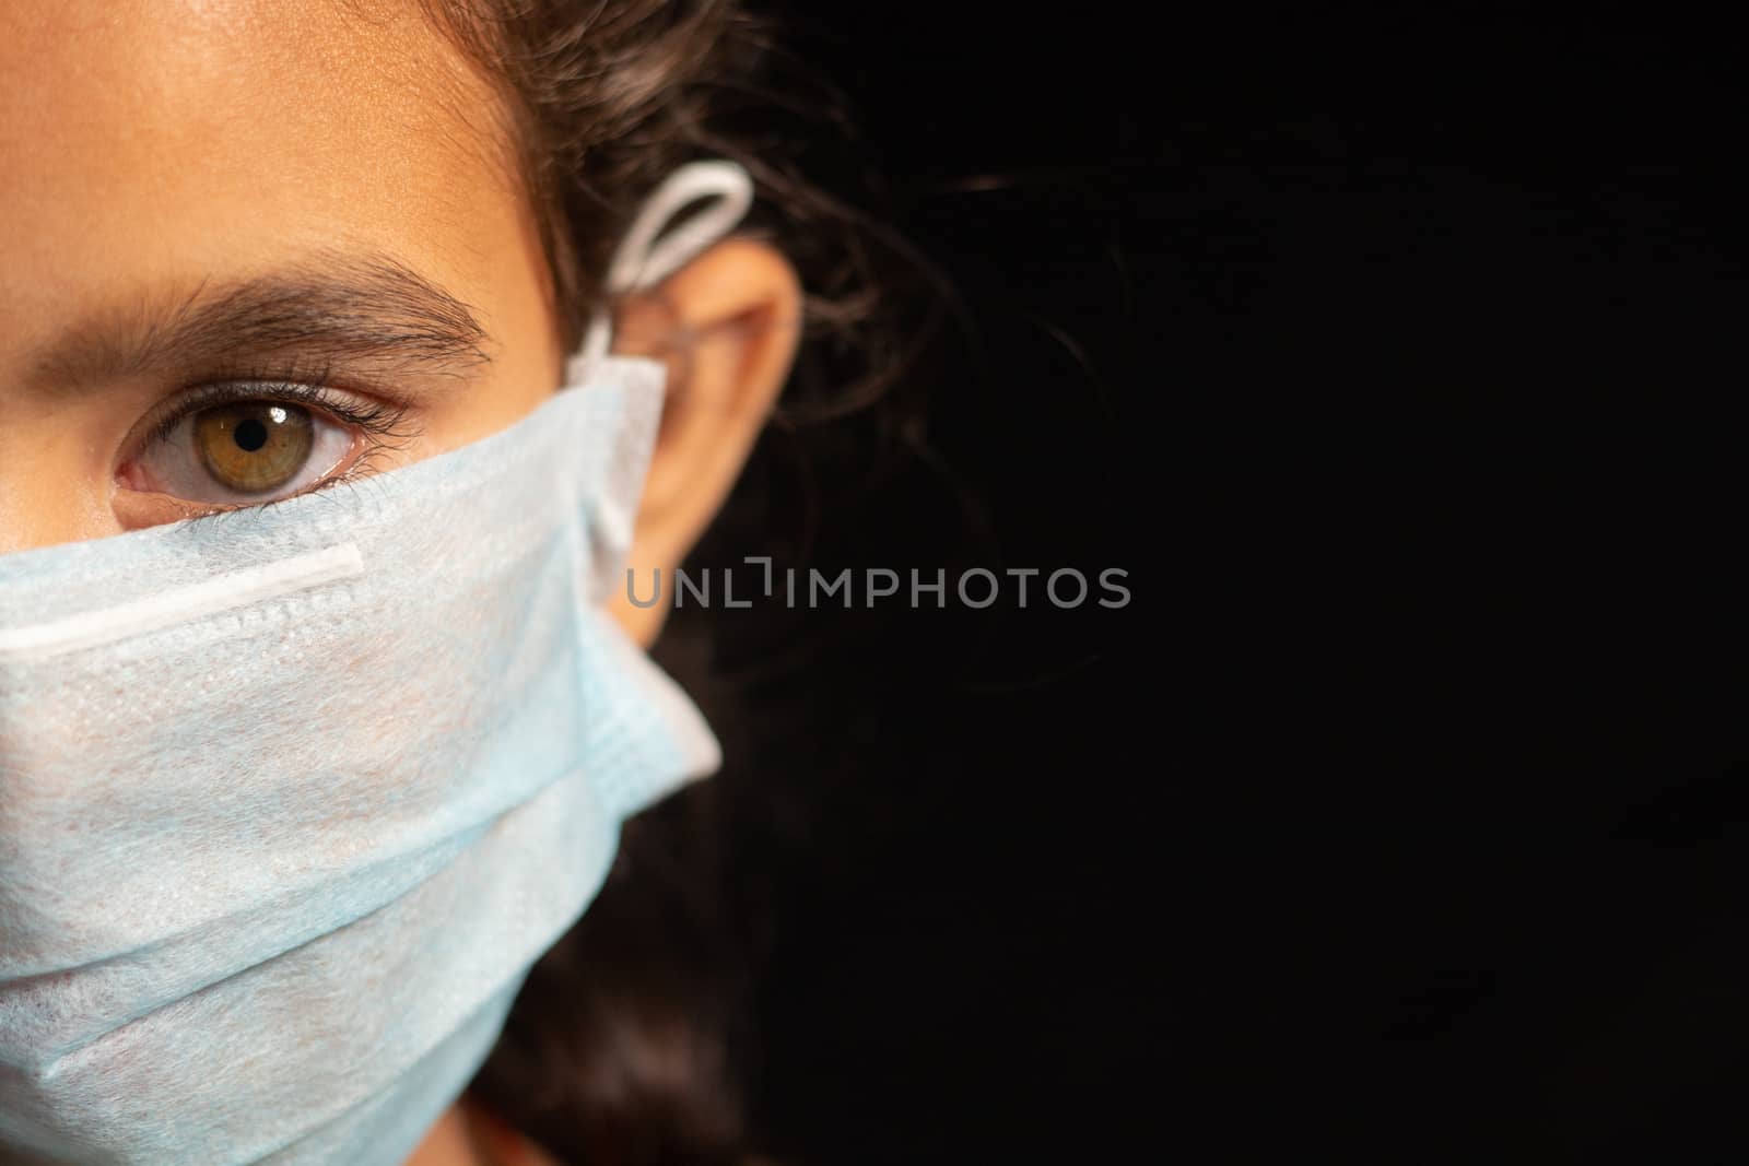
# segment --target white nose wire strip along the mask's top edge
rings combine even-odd
[[[0,659],[47,659],[82,649],[261,603],[294,591],[357,579],[364,573],[359,544],[346,542],[289,559],[248,566],[205,582],[149,594],[131,603],[80,612],[45,624],[0,629]]]

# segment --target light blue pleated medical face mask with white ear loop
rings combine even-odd
[[[677,175],[610,290],[747,196]],[[0,1163],[399,1166],[717,766],[602,610],[663,393],[605,350],[463,449],[0,558]]]

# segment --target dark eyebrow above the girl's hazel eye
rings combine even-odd
[[[45,386],[156,369],[238,376],[280,355],[366,372],[465,376],[490,362],[474,311],[388,255],[320,255],[192,294],[110,306],[73,323],[30,362]]]

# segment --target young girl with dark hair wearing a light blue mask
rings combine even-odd
[[[719,1035],[561,937],[717,762],[623,577],[791,381],[754,33],[0,10],[0,1163],[742,1157]]]

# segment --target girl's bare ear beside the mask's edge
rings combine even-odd
[[[617,313],[614,351],[668,365],[661,432],[626,563],[647,594],[663,572],[663,601],[637,607],[623,587],[609,610],[649,647],[673,594],[673,568],[693,549],[740,477],[789,379],[801,336],[801,283],[777,250],[752,239],[710,248]]]

